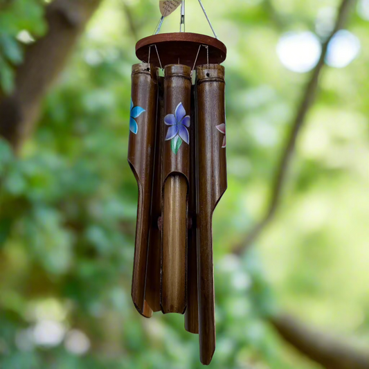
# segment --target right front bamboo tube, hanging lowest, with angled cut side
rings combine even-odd
[[[201,363],[215,352],[213,211],[227,187],[224,67],[197,67],[197,259]]]

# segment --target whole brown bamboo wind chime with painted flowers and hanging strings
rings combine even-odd
[[[213,211],[227,187],[226,46],[185,33],[185,1],[160,1],[154,35],[136,44],[128,161],[138,183],[132,299],[138,312],[185,314],[200,359],[215,352]],[[179,33],[159,34],[181,6]],[[192,81],[194,81],[192,83]]]

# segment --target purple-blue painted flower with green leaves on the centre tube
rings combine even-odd
[[[177,105],[175,114],[165,116],[164,123],[170,126],[165,141],[172,140],[172,151],[177,154],[182,141],[190,143],[190,134],[187,128],[190,127],[191,118],[186,116],[186,110],[181,102]]]

